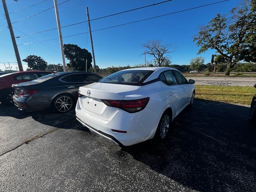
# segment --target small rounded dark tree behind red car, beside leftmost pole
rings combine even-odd
[[[45,71],[47,66],[47,62],[40,56],[36,56],[36,55],[29,55],[27,56],[27,58],[23,59],[22,61],[28,63],[28,68],[32,70]]]

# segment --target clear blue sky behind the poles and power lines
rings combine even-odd
[[[16,2],[6,0],[6,4],[9,13],[11,13],[42,1],[18,0]],[[57,0],[58,4],[64,1],[66,0]],[[92,20],[162,1],[164,0],[69,0],[58,6],[60,25],[66,26],[86,21],[86,6]],[[172,0],[156,6],[91,21],[91,28],[98,30],[219,1],[221,0]],[[174,44],[177,47],[176,51],[170,54],[172,64],[189,64],[192,58],[198,56],[204,57],[205,63],[208,63],[215,51],[208,50],[200,55],[197,54],[199,48],[196,46],[196,42],[193,42],[193,36],[198,34],[198,26],[207,25],[218,13],[229,14],[229,11],[240,2],[240,0],[229,0],[194,10],[92,32],[96,65],[100,68],[107,68],[110,66],[127,66],[128,64],[130,66],[144,64],[144,56],[142,55],[144,48],[141,44],[153,39],[161,40],[163,44]],[[10,14],[10,19],[12,22],[16,22],[52,6],[54,6],[54,1],[46,0],[38,5]],[[4,10],[0,4],[0,69],[5,70],[4,62],[10,62],[12,69],[16,69],[14,48],[3,14]],[[55,10],[52,8],[31,18],[16,22],[12,26],[15,36],[57,28]],[[88,33],[65,38],[65,36],[84,32],[88,32],[87,22],[62,28],[63,43],[77,44],[92,52]],[[41,56],[48,64],[62,64],[60,42],[58,39],[49,40],[53,38],[58,38],[58,30],[16,38],[21,60],[28,55],[37,55]],[[38,43],[42,40],[49,41]],[[146,55],[146,60],[153,60],[153,57]],[[68,62],[66,59],[66,63]],[[26,70],[26,62],[22,61],[22,65]]]

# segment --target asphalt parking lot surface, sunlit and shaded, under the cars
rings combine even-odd
[[[195,100],[163,143],[119,146],[67,114],[0,104],[0,191],[255,191],[249,108]]]

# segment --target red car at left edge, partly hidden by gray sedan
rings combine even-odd
[[[1,75],[0,102],[6,105],[13,104],[12,96],[14,94],[14,89],[12,88],[12,84],[31,81],[51,73],[52,72],[48,71],[22,71]]]

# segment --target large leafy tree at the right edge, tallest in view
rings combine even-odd
[[[198,35],[194,37],[200,47],[198,54],[215,49],[225,58],[226,75],[239,60],[252,60],[248,54],[255,54],[255,3],[255,0],[244,0],[231,10],[230,17],[217,14],[208,25],[200,26]]]

